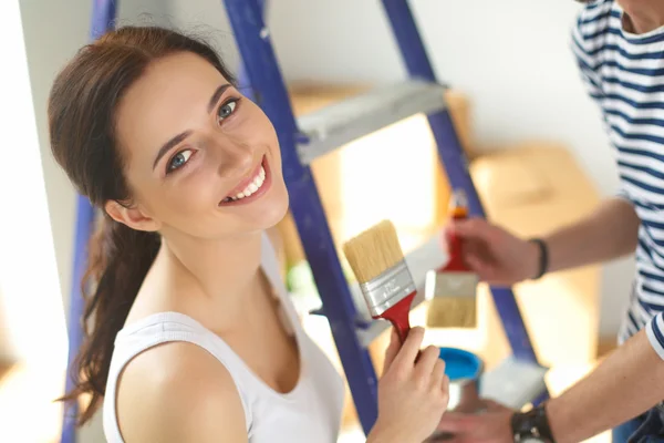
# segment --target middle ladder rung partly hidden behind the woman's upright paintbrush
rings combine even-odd
[[[417,295],[413,300],[413,309],[422,303],[425,299],[432,297],[426,293],[427,290],[433,290],[435,274],[433,269],[438,268],[447,262],[447,254],[440,248],[439,244],[440,233],[432,237],[427,243],[414,249],[409,254],[406,254],[406,265],[411,270],[415,286],[417,287]],[[427,284],[427,278],[432,281]],[[383,331],[390,328],[390,323],[385,320],[373,320],[366,308],[366,302],[362,297],[362,290],[355,282],[351,285],[351,293],[353,301],[357,309],[357,313],[366,321],[371,321],[371,326],[366,329],[357,330],[357,339],[362,346],[367,347],[371,342],[378,337]]]

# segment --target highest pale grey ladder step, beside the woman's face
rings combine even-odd
[[[445,86],[408,80],[376,87],[298,119],[302,164],[415,114],[442,111]]]

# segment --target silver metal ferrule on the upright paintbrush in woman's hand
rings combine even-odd
[[[376,278],[360,285],[372,317],[378,317],[415,291],[406,261],[402,260]]]

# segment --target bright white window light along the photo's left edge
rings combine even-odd
[[[0,332],[10,356],[61,371],[66,329],[19,1],[0,1]]]

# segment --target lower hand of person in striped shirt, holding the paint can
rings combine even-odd
[[[484,403],[486,410],[476,414],[446,412],[437,431],[454,434],[445,440],[450,443],[512,443],[513,411],[491,400]]]

